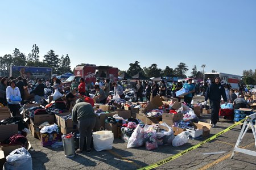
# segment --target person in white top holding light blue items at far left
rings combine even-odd
[[[10,86],[6,88],[6,100],[7,100],[10,112],[13,114],[13,116],[16,116],[16,114],[19,113],[20,105],[19,105],[19,101],[16,101],[18,99],[20,99],[21,101],[20,91],[19,91],[19,88],[16,87],[16,82],[12,80],[10,82]]]

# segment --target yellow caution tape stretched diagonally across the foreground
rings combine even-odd
[[[246,117],[246,118],[247,118],[247,117]],[[154,163],[154,164],[148,165],[147,167],[143,167],[143,168],[139,168],[139,169],[140,169],[140,170],[153,169],[153,168],[159,167],[160,165],[166,164],[166,163],[170,162],[171,160],[174,160],[174,159],[176,159],[176,158],[179,158],[181,155],[187,154],[188,152],[193,151],[193,150],[195,150],[196,148],[198,148],[198,147],[204,145],[205,143],[207,143],[207,142],[209,142],[209,141],[212,141],[213,139],[217,138],[218,136],[220,136],[220,135],[226,133],[226,132],[229,131],[230,129],[232,129],[232,128],[234,128],[235,126],[241,124],[243,121],[246,120],[246,118],[244,118],[243,120],[241,120],[241,121],[239,121],[239,122],[236,122],[236,123],[233,124],[232,126],[229,126],[229,128],[226,128],[226,129],[220,131],[219,133],[213,135],[212,137],[206,139],[205,141],[200,142],[200,143],[198,143],[198,144],[195,145],[195,146],[189,147],[187,150],[184,150],[184,151],[180,152],[179,154],[170,156],[170,157],[168,157],[168,158],[166,158],[166,159],[160,160],[160,161],[157,162],[157,163]]]

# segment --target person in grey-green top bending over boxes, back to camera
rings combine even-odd
[[[84,102],[82,99],[77,99],[72,110],[72,121],[79,124],[79,148],[76,150],[76,153],[82,154],[85,137],[86,152],[89,153],[92,150],[92,148],[90,148],[92,130],[96,123],[96,114],[94,113],[92,105]]]

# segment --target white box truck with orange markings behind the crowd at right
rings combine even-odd
[[[213,83],[214,78],[216,76],[219,76],[221,78],[221,84],[230,84],[233,89],[239,90],[238,83],[241,80],[240,75],[234,75],[234,74],[227,74],[227,73],[205,73],[204,78],[205,82],[207,81],[208,78],[210,78],[210,82]]]

